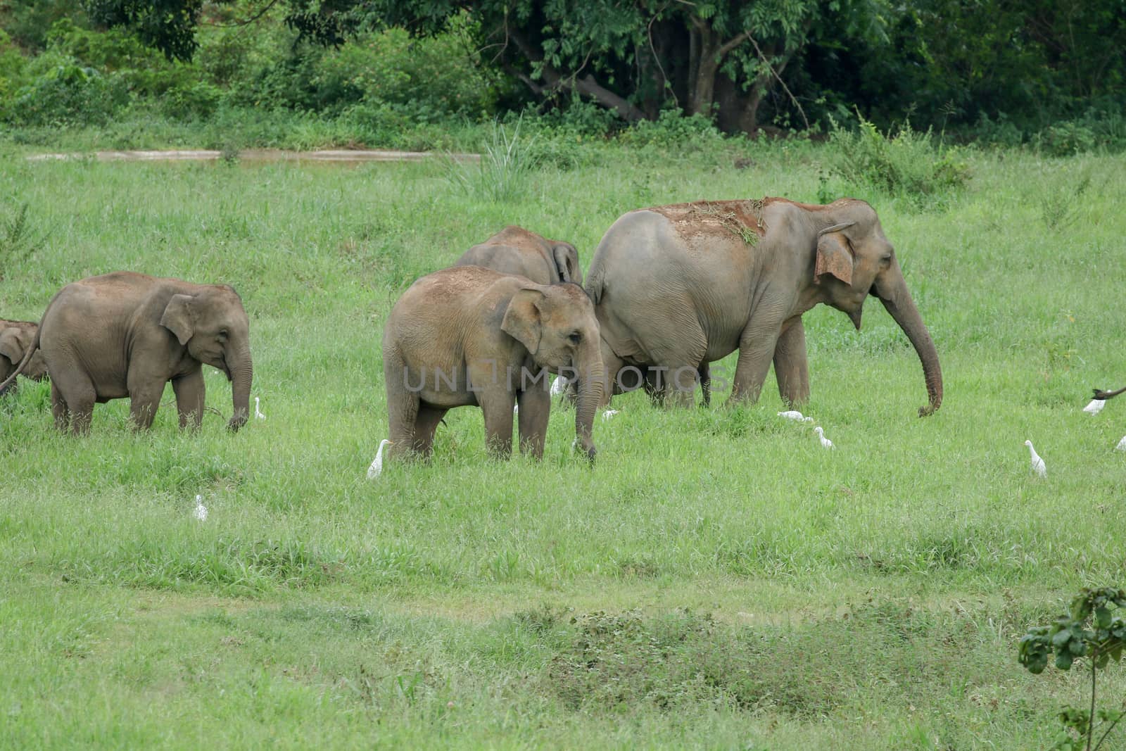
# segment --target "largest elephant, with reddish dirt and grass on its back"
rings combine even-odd
[[[738,349],[733,403],[758,400],[779,349],[788,352],[779,386],[801,377],[790,368],[804,364],[804,338],[794,333],[803,313],[824,303],[859,329],[873,294],[922,361],[929,403],[920,415],[942,403],[938,352],[879,218],[863,200],[695,202],[631,212],[595,251],[587,293],[607,373],[660,368],[664,393],[687,402],[698,369]]]

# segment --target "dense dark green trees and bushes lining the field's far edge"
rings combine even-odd
[[[1117,0],[0,0],[0,117],[265,108],[402,145],[379,134],[583,101],[599,135],[668,109],[749,134],[860,114],[1064,154],[1126,142],[1124,45]]]

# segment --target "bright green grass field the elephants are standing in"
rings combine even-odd
[[[822,151],[743,149],[745,169],[608,149],[501,203],[439,163],[0,158],[0,315],[116,269],[230,283],[267,415],[227,435],[217,372],[198,435],[170,388],[145,435],[127,400],[84,439],[54,431],[46,384],[0,404],[0,745],[1049,745],[1088,679],[1028,674],[1017,641],[1080,585],[1126,583],[1126,399],[1081,412],[1126,381],[1120,155],[982,153],[922,207],[859,195],[941,357],[931,418],[869,299],[859,333],[805,316],[804,411],[834,452],[776,417],[771,375],[736,410],[615,397],[593,468],[569,411],[543,462],[497,463],[463,409],[430,464],[365,479],[383,321],[414,278],[507,223],[586,265],[632,208],[824,189]]]

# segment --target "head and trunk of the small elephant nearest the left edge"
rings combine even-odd
[[[238,293],[226,285],[195,294],[176,294],[168,301],[160,324],[200,363],[226,374],[234,413],[227,428],[238,430],[250,413],[250,320]]]

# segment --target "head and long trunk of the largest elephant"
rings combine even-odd
[[[869,294],[879,298],[922,363],[929,404],[919,408],[919,415],[933,413],[942,403],[938,351],[872,206],[844,198],[824,207],[822,229],[816,235],[813,277],[822,302],[848,314],[857,329],[864,301]]]

